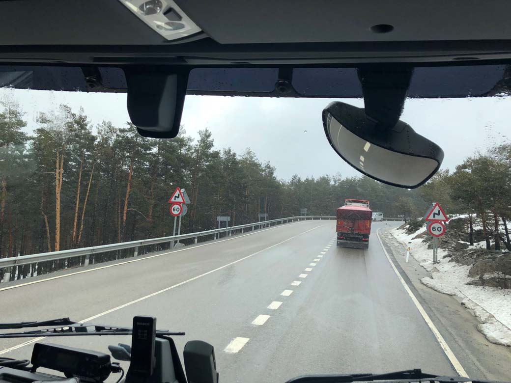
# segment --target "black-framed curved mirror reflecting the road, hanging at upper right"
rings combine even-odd
[[[436,143],[399,120],[393,127],[369,118],[364,109],[333,102],[323,127],[337,154],[359,172],[389,185],[415,188],[430,179],[444,159]]]

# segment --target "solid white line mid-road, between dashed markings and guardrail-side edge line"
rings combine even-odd
[[[272,248],[274,248],[275,246],[282,245],[283,243],[286,243],[286,242],[288,242],[288,241],[291,241],[291,240],[293,240],[293,239],[294,239],[294,238],[296,238],[296,237],[302,236],[302,235],[304,235],[305,233],[308,233],[309,231],[312,231],[312,230],[316,230],[317,228],[322,227],[322,226],[324,226],[324,225],[319,225],[319,226],[313,227],[312,229],[309,229],[309,230],[306,230],[306,231],[304,231],[304,232],[301,232],[300,234],[293,235],[292,237],[287,238],[287,240],[284,240],[284,241],[281,241],[281,242],[279,242],[279,243],[276,243],[275,245],[268,246],[268,247],[267,247],[267,248],[265,248],[265,249],[262,249],[262,250],[256,251],[255,253],[252,253],[252,254],[250,254],[250,255],[247,255],[247,256],[245,256],[245,257],[243,257],[243,258],[240,258],[240,259],[237,259],[237,260],[235,260],[235,261],[229,262],[228,264],[225,264],[225,265],[223,265],[223,266],[217,267],[216,269],[213,269],[213,270],[207,271],[207,272],[205,272],[205,273],[203,273],[203,274],[200,274],[200,275],[197,275],[197,276],[192,277],[192,278],[190,278],[190,279],[187,279],[187,280],[184,280],[184,281],[182,281],[182,282],[176,283],[176,284],[174,284],[174,285],[172,285],[172,286],[169,286],[168,288],[161,289],[161,290],[156,291],[156,292],[154,292],[154,293],[148,294],[148,295],[146,295],[146,296],[144,296],[144,297],[141,297],[141,298],[138,298],[138,299],[134,299],[134,300],[132,300],[132,301],[130,301],[130,302],[127,302],[127,303],[121,304],[120,306],[110,308],[109,310],[106,310],[106,311],[104,311],[103,313],[99,313],[99,314],[96,314],[96,315],[94,315],[94,316],[92,316],[92,317],[82,319],[82,320],[81,320],[81,321],[79,321],[79,322],[82,322],[82,323],[83,323],[83,322],[89,322],[89,321],[91,321],[91,320],[93,320],[93,319],[96,319],[96,318],[102,317],[102,316],[104,316],[104,315],[110,314],[110,313],[112,313],[112,312],[114,312],[114,311],[117,311],[117,310],[119,310],[119,309],[121,309],[121,308],[124,308],[124,307],[130,306],[130,305],[132,305],[132,304],[134,304],[134,303],[141,302],[141,301],[143,301],[143,300],[146,300],[146,299],[148,299],[148,298],[154,297],[155,295],[158,295],[158,294],[161,294],[161,293],[165,293],[166,291],[169,291],[169,290],[175,289],[175,288],[177,288],[177,287],[179,287],[179,286],[181,286],[181,285],[183,285],[183,284],[185,284],[185,283],[189,283],[189,282],[194,281],[194,280],[196,280],[196,279],[199,279],[199,278],[205,277],[206,275],[212,274],[212,273],[214,273],[214,272],[216,272],[216,271],[219,271],[219,270],[225,269],[225,268],[227,268],[227,267],[229,267],[229,266],[235,265],[235,264],[237,264],[238,262],[241,262],[242,260],[245,260],[245,259],[248,259],[248,258],[250,258],[250,257],[253,257],[254,255],[257,255],[257,254],[259,254],[259,253],[262,253],[263,251],[266,251],[266,250],[272,249]],[[179,251],[179,250],[178,250],[178,251]],[[0,350],[0,355],[5,354],[6,352],[9,352],[9,351],[12,351],[12,350],[16,350],[17,348],[20,348],[20,347],[23,347],[23,346],[29,345],[29,344],[31,344],[31,343],[38,342],[38,341],[40,341],[40,340],[42,340],[42,339],[44,339],[44,338],[45,338],[45,337],[39,337],[39,338],[32,339],[32,340],[27,341],[27,342],[24,342],[24,343],[20,343],[20,344],[18,344],[18,345],[16,345],[16,346],[12,346],[12,347],[6,348],[6,349],[4,349],[4,350]],[[241,339],[245,339],[245,338],[241,338]],[[247,338],[247,342],[248,342],[248,338]],[[245,343],[246,343],[246,342],[245,342]],[[228,347],[228,346],[227,346],[227,347]],[[243,346],[242,346],[242,347],[243,347]]]

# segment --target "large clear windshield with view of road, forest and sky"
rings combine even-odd
[[[188,95],[170,140],[138,135],[122,93],[0,101],[0,322],[151,315],[186,332],[179,350],[212,344],[223,382],[509,380],[510,98],[407,99],[402,121],[445,152],[413,190],[332,150],[332,99]],[[34,341],[108,352],[130,337],[0,339],[0,356]]]

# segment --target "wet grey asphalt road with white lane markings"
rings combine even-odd
[[[376,230],[389,225],[373,224],[368,250],[337,248],[335,221],[305,221],[0,286],[0,322],[70,317],[130,326],[133,316],[152,315],[158,328],[186,331],[176,338],[180,351],[194,339],[214,345],[223,382],[411,368],[456,375],[382,250]],[[29,358],[31,346],[19,347],[26,341],[0,340],[0,354]],[[43,342],[107,352],[130,340]]]

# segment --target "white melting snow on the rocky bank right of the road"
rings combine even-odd
[[[440,293],[459,297],[464,306],[471,309],[481,322],[478,325],[487,340],[492,343],[511,346],[511,291],[496,289],[489,286],[473,286],[466,284],[476,278],[468,276],[471,266],[449,262],[450,258],[444,258],[447,250],[438,249],[438,264],[433,264],[433,250],[428,249],[428,244],[423,243],[422,238],[413,239],[417,234],[424,233],[426,226],[413,234],[407,234],[405,229],[392,229],[390,233],[410,247],[410,255],[419,261],[430,274],[430,277],[422,278],[421,282],[429,288]],[[484,246],[474,244],[466,251]]]

